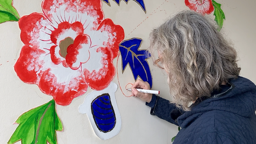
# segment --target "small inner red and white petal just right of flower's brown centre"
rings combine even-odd
[[[80,67],[81,63],[85,63],[90,58],[89,48],[91,46],[90,37],[86,34],[80,34],[67,48],[66,62],[68,66],[74,70]]]

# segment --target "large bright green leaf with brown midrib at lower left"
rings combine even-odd
[[[57,144],[56,131],[63,130],[54,100],[25,112],[16,123],[19,126],[8,144],[14,144],[19,140],[22,144]]]

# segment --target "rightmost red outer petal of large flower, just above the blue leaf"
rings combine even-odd
[[[108,41],[103,45],[110,48],[113,58],[116,58],[119,51],[119,44],[124,40],[124,29],[122,26],[115,25],[111,19],[106,18],[97,30],[108,32]]]

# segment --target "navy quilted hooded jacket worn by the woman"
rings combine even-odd
[[[198,99],[189,112],[155,96],[150,113],[182,128],[173,144],[256,144],[256,86],[243,77],[229,83],[224,92]]]

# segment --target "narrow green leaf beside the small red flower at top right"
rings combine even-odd
[[[215,16],[214,20],[217,22],[217,24],[219,26],[219,30],[220,30],[223,26],[223,22],[225,20],[225,15],[224,15],[224,12],[222,11],[222,9],[220,8],[221,4],[218,4],[214,0],[212,0],[212,4],[214,6],[214,14],[213,14]]]

